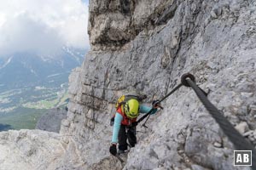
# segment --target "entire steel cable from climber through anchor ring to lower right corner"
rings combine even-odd
[[[256,170],[256,150],[253,144],[247,141],[247,139],[245,139],[241,135],[241,133],[237,132],[235,127],[233,127],[233,125],[223,116],[223,114],[218,111],[218,109],[214,105],[212,105],[212,103],[207,99],[207,93],[196,85],[195,77],[193,75],[189,73],[183,74],[183,76],[181,77],[181,83],[178,84],[177,87],[173,88],[170,93],[166,94],[165,97],[160,100],[156,100],[153,105],[160,104],[160,102],[168,98],[171,94],[176,92],[177,89],[181,88],[182,86],[192,88],[195,91],[195,94],[201,100],[202,104],[206,107],[207,111],[215,119],[215,121],[218,123],[219,127],[223,130],[228,139],[230,139],[230,142],[234,144],[236,150],[252,150],[252,169]],[[137,122],[133,122],[131,126],[137,126],[137,124],[139,122],[142,122],[143,119],[145,119],[147,116],[149,118],[150,114],[153,111],[154,108],[148,111],[148,113],[142,116]],[[146,120],[146,122],[147,121],[148,119]],[[146,122],[143,123],[143,127],[146,127]],[[119,156],[117,156],[117,158],[119,159],[119,161],[124,162]]]

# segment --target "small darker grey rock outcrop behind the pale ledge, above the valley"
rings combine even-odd
[[[67,118],[67,111],[60,108],[50,109],[40,117],[36,129],[59,133],[62,119]]]

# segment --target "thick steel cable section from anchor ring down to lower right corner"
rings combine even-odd
[[[234,144],[236,150],[252,150],[252,168],[256,169],[256,150],[254,149],[253,144],[250,144],[250,142],[244,139],[232,124],[223,116],[223,114],[221,114],[220,111],[212,105],[212,103],[207,99],[206,94],[195,84],[194,76],[189,73],[184,74],[182,77],[182,83],[186,87],[193,88],[197,97],[201,100],[202,104],[207,108],[207,111],[209,111],[211,116],[218,123],[219,127]]]

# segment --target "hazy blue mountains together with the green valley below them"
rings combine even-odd
[[[34,128],[48,109],[66,107],[68,76],[86,51],[63,47],[51,55],[0,56],[0,131]]]

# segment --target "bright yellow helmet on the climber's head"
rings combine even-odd
[[[139,116],[139,102],[137,99],[129,99],[125,103],[125,115],[131,119]]]

